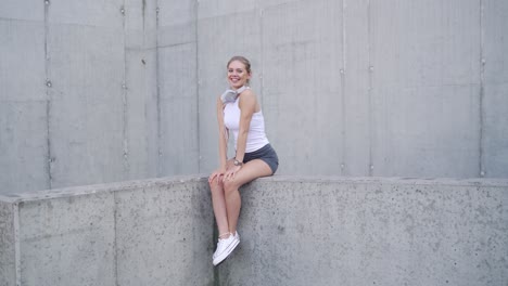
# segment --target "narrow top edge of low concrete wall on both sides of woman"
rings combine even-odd
[[[147,180],[124,181],[105,184],[72,186],[64,188],[45,190],[29,193],[0,195],[0,202],[16,204],[51,199],[59,197],[73,197],[97,193],[110,193],[129,191],[135,188],[151,187],[154,185],[173,185],[190,182],[206,183],[206,174],[174,176]],[[330,176],[274,176],[256,180],[258,183],[345,183],[345,184],[399,184],[399,185],[452,185],[452,186],[478,186],[503,187],[508,191],[508,179],[453,179],[453,178],[402,178],[402,177],[330,177]]]

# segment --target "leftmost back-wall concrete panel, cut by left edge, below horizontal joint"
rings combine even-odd
[[[0,194],[49,187],[43,25],[0,20]]]

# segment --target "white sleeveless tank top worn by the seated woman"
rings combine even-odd
[[[238,144],[238,132],[240,129],[240,107],[238,102],[240,96],[237,98],[234,102],[228,102],[224,107],[224,125],[229,131],[232,131],[234,134],[234,146]],[[264,147],[268,144],[268,139],[265,134],[265,117],[263,117],[263,112],[259,110],[252,115],[251,126],[249,127],[247,140],[245,152],[254,152]]]

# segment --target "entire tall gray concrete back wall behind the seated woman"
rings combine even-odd
[[[508,2],[0,2],[0,193],[217,165],[253,64],[281,174],[508,178]]]

